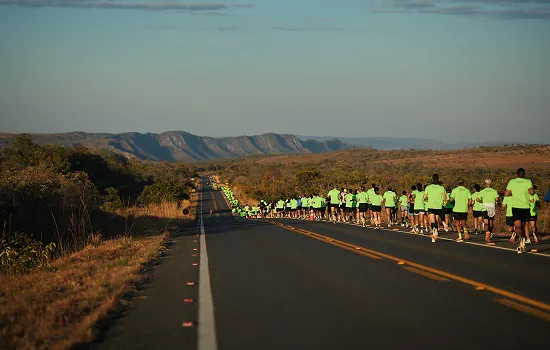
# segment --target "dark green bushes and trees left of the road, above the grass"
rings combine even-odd
[[[24,232],[45,244],[77,249],[104,211],[189,198],[196,176],[183,163],[128,160],[82,146],[39,146],[30,135],[17,136],[0,153],[3,248]]]

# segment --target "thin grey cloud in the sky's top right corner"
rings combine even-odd
[[[493,19],[550,19],[550,0],[385,0],[376,13],[421,13]]]

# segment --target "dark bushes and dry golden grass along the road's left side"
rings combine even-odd
[[[91,341],[170,233],[192,224],[197,176],[16,137],[0,153],[2,348]]]

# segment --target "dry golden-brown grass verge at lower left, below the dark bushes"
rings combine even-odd
[[[143,278],[168,233],[100,241],[31,274],[0,275],[2,348],[66,349],[94,339],[95,325]]]

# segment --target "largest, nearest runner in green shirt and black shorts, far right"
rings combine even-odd
[[[519,237],[517,246],[518,254],[525,253],[526,238],[529,238],[529,222],[531,210],[529,208],[530,195],[535,194],[533,183],[525,178],[525,169],[519,168],[517,177],[508,182],[506,197],[512,198],[512,216],[514,218],[515,232]],[[525,234],[525,236],[524,236]]]

